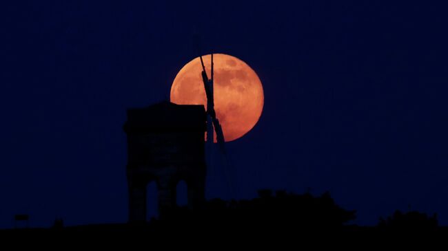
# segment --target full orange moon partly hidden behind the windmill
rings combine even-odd
[[[203,56],[203,61],[210,78],[210,54]],[[241,138],[258,122],[264,105],[263,86],[254,70],[240,59],[227,54],[213,54],[213,61],[214,109],[223,127],[225,141],[229,142]],[[199,57],[187,63],[174,78],[171,102],[207,107],[201,72]]]

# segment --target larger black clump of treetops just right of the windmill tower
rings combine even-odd
[[[336,228],[355,219],[354,210],[345,210],[334,203],[329,193],[314,197],[309,193],[297,195],[283,190],[259,190],[250,200],[207,201],[203,210],[190,212],[176,208],[170,217],[154,224],[162,226],[201,226],[207,229],[298,229]]]

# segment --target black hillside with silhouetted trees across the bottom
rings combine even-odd
[[[99,241],[108,245],[114,241],[128,243],[162,243],[194,245],[212,241],[219,243],[283,243],[292,245],[372,246],[393,242],[403,245],[442,242],[448,237],[448,227],[438,226],[436,215],[422,212],[400,212],[378,221],[377,226],[356,226],[350,223],[356,211],[340,208],[329,195],[296,195],[270,190],[259,191],[251,200],[207,201],[202,210],[192,212],[175,208],[166,219],[151,219],[147,223],[115,223],[52,228],[22,228],[0,230],[0,239],[39,241]],[[207,240],[205,242],[199,240]],[[19,243],[28,244],[27,242]],[[208,245],[208,244],[207,244]],[[223,244],[224,245],[224,244]]]

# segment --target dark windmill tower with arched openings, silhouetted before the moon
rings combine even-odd
[[[129,221],[146,221],[146,186],[152,181],[159,190],[161,218],[176,206],[181,180],[187,184],[188,208],[201,208],[207,170],[204,107],[161,102],[128,109],[123,129],[128,135]]]

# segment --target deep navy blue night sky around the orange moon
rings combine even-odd
[[[391,2],[1,3],[0,228],[127,221],[126,109],[169,99],[196,34],[263,83],[258,124],[227,144],[238,198],[328,190],[354,223],[447,225],[448,6]]]

